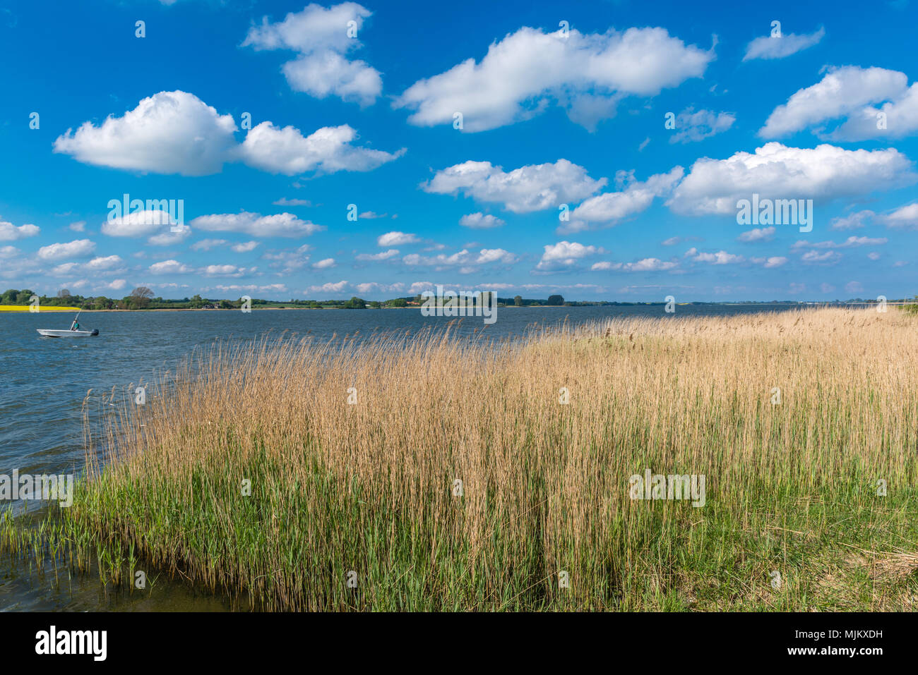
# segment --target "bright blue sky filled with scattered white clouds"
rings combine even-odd
[[[915,25],[904,1],[7,1],[0,287],[911,296]],[[812,231],[740,224],[753,194],[812,199]]]

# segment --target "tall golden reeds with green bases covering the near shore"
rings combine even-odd
[[[908,610],[916,328],[818,309],[215,349],[88,411],[110,462],[0,547],[273,609]],[[703,475],[704,505],[631,499],[646,469]]]

